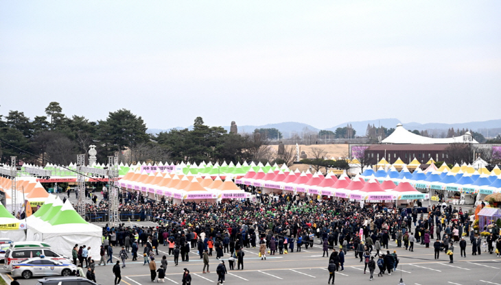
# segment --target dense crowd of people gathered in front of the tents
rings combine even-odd
[[[102,260],[104,254],[113,254],[113,247],[117,246],[123,247],[120,252],[131,253],[132,260],[137,260],[142,252],[143,264],[150,267],[152,280],[156,273],[163,276],[167,270],[165,256],[162,259],[165,264],[159,269],[154,263],[159,246],[168,248],[168,255],[174,257],[174,266],[178,266],[179,256],[181,262],[187,262],[190,250],[198,251],[196,258],[204,262],[204,273],[209,272],[209,256],[215,255],[221,262],[216,272],[222,283],[226,264],[221,259],[225,255],[229,270],[235,270],[235,265],[236,270],[240,270],[244,269],[245,256],[241,249],[258,247],[259,256],[266,260],[267,255],[290,254],[294,249],[301,251],[301,248],[307,249],[317,243],[323,247],[324,256],[329,258],[328,269],[334,282],[334,272],[344,270],[347,251],[353,251],[355,258],[364,262],[364,273],[368,268],[369,278],[373,279],[376,265],[380,269],[378,276],[391,274],[396,269],[399,263],[396,251],[388,251],[388,243],[392,241],[397,247],[413,251],[415,243],[430,247],[432,240],[436,240],[432,244],[435,257],[439,258],[443,251],[450,256],[450,262],[453,262],[454,243],[461,248],[461,256],[466,256],[465,237],[470,239],[473,254],[480,254],[482,242],[471,231],[469,214],[452,206],[432,206],[425,215],[416,209],[410,212],[408,209],[389,210],[383,204],[360,208],[360,203],[305,200],[292,194],[273,198],[261,195],[261,203],[180,204],[150,201],[130,193],[126,196],[124,203],[120,203],[121,211],[139,212],[141,219],[155,221],[158,225],[130,227],[123,223],[117,227],[104,227]],[[107,210],[108,201],[88,204],[87,207],[88,211]],[[501,251],[498,233],[499,229],[494,229],[486,240],[490,243],[491,253],[493,249],[496,253]],[[332,251],[330,255],[329,251]],[[123,268],[127,257],[122,258],[126,255],[121,253],[120,256]],[[185,270],[185,275],[189,276],[189,271]]]

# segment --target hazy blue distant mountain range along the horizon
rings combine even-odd
[[[375,120],[369,120],[369,121],[351,121],[351,122],[346,122],[342,123],[339,125],[336,125],[334,127],[330,127],[326,130],[335,132],[338,127],[346,127],[348,124],[351,124],[353,129],[356,130],[356,135],[358,136],[364,136],[367,125],[375,125],[377,126],[382,126],[382,127],[387,127],[388,129],[391,127],[395,127],[398,123],[401,123],[399,119],[395,118],[389,118],[389,119],[375,119]],[[238,122],[237,122],[238,125]],[[452,124],[445,124],[445,123],[417,123],[417,122],[411,122],[411,123],[402,123],[406,129],[413,130],[417,129],[419,131],[424,131],[426,129],[428,130],[435,130],[437,132],[443,132],[447,131],[447,129],[450,129],[451,127],[454,127],[454,129],[472,129],[474,132],[480,132],[482,135],[487,136],[489,134],[489,137],[496,136],[498,132],[501,132],[501,119],[499,120],[490,120],[490,121],[474,121],[474,122],[468,122],[468,123],[452,123]],[[223,126],[224,129],[227,131],[230,130],[230,126]],[[188,129],[192,129],[193,125],[190,125]],[[283,134],[284,137],[289,137],[292,133],[296,132],[298,134],[301,134],[301,132],[318,132],[321,129],[318,129],[312,125],[308,125],[305,123],[299,123],[299,122],[283,122],[283,123],[271,123],[267,125],[238,125],[238,132],[239,133],[244,133],[244,132],[253,132],[255,129],[260,129],[260,128],[275,128],[279,129],[279,131]],[[172,129],[172,128],[171,128]],[[174,129],[184,129],[184,127],[174,127]],[[159,132],[168,132],[170,129],[148,129],[148,133],[150,134],[158,134]]]

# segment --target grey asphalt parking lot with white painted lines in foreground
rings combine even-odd
[[[388,250],[397,251],[400,259],[397,271],[391,275],[377,277],[379,270],[376,269],[374,280],[370,284],[399,284],[399,280],[402,278],[407,285],[501,285],[501,258],[497,258],[496,254],[483,252],[480,256],[471,256],[471,246],[467,247],[467,257],[461,258],[459,247],[456,245],[453,264],[449,263],[449,256],[446,256],[445,253],[441,253],[439,260],[434,260],[433,249],[426,249],[424,245],[415,245],[415,250],[411,252],[391,243]],[[202,273],[203,262],[196,254],[196,250],[189,253],[189,262],[179,261],[177,267],[174,266],[172,256],[167,255],[167,251],[167,247],[161,245],[159,247],[160,255],[156,258],[156,265],[159,267],[161,257],[167,256],[168,266],[165,283],[182,284],[183,269],[187,268],[191,273],[192,284],[217,284],[218,277],[215,274],[215,269],[220,261],[215,260],[215,254],[209,258],[211,273],[204,274]],[[118,248],[114,252],[113,263],[117,260]],[[228,270],[225,284],[256,284],[257,282],[273,282],[272,284],[284,285],[325,284],[329,278],[328,258],[322,256],[322,247],[318,243],[307,250],[303,247],[301,252],[294,251],[283,255],[267,256],[266,260],[261,260],[258,257],[257,248],[244,249],[244,252],[246,253],[244,270],[229,270],[229,255],[226,254],[222,258]],[[151,284],[148,264],[143,265],[142,259],[135,262],[130,260],[129,258],[126,261],[126,267],[121,271],[121,284]],[[114,284],[112,268],[112,264],[96,266],[95,273],[98,284]],[[84,272],[86,272],[85,269]],[[5,271],[1,270],[1,273],[5,274]],[[10,276],[8,273],[5,275]],[[36,279],[18,281],[21,285],[34,285]],[[364,274],[364,263],[360,262],[359,258],[355,258],[353,252],[348,252],[345,256],[345,271],[336,273],[336,284],[368,282],[370,282],[369,271],[367,270]]]

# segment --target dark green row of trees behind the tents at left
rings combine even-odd
[[[10,156],[24,162],[65,165],[78,153],[87,153],[95,145],[97,161],[118,155],[124,163],[137,161],[294,161],[294,149],[277,154],[268,146],[267,129],[253,134],[229,134],[222,127],[209,127],[197,117],[193,129],[171,129],[148,134],[141,118],[129,110],[110,112],[105,120],[89,121],[84,116],[66,116],[59,103],[51,102],[45,116],[30,119],[23,112],[10,111],[0,116],[0,160]],[[277,130],[278,131],[278,130]]]

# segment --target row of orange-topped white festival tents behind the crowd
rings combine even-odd
[[[127,173],[118,183],[123,190],[140,192],[150,198],[170,198],[174,203],[250,197],[250,193],[244,192],[229,177],[223,181],[220,176],[212,179],[210,175],[171,175],[161,171],[141,172],[137,169]]]

